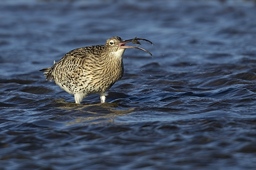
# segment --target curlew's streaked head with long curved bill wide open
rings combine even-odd
[[[126,43],[132,42],[133,40],[134,39],[122,40],[122,38],[120,38],[120,37],[112,37],[107,40],[107,42],[105,44],[105,51],[108,53],[111,53],[112,55],[115,55],[116,57],[122,57],[126,48],[137,48],[137,49],[146,51],[148,54],[152,55],[149,51],[147,51],[143,48],[125,45]],[[137,39],[137,40],[145,40],[145,39]],[[146,40],[146,41],[148,41],[148,40]],[[150,41],[148,41],[148,42],[150,42]]]

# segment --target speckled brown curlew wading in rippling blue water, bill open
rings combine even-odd
[[[75,102],[81,101],[89,94],[99,94],[101,103],[105,102],[107,91],[120,80],[124,74],[123,54],[126,48],[139,47],[125,45],[128,42],[143,40],[143,38],[123,40],[111,37],[105,45],[92,45],[69,51],[58,62],[44,71],[46,80],[54,80],[56,85],[69,94],[73,94]],[[150,42],[152,44],[152,42]]]

